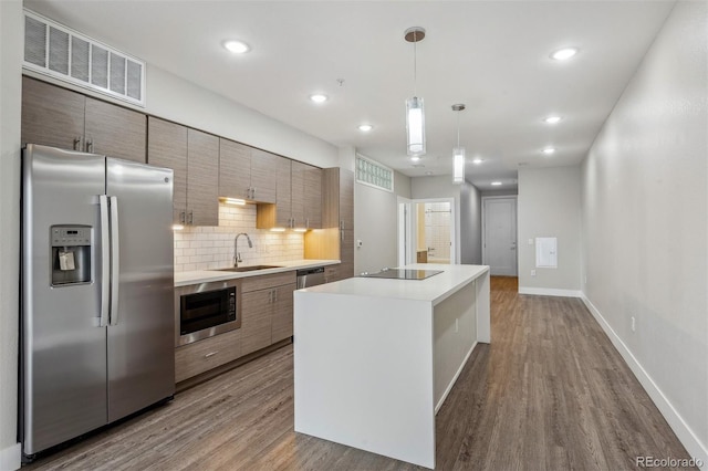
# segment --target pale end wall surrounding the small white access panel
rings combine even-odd
[[[580,294],[580,167],[519,170],[519,292]],[[558,268],[535,266],[535,238],[558,239]],[[529,239],[533,244],[529,244]],[[531,275],[535,270],[537,275]]]

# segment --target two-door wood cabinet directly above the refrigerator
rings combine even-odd
[[[22,143],[145,163],[146,117],[23,76]]]

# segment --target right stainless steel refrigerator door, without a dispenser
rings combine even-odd
[[[119,240],[117,322],[107,344],[114,421],[175,393],[173,171],[112,158],[106,168]]]

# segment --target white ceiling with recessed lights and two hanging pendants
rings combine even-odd
[[[582,160],[675,1],[66,1],[24,4],[405,175],[449,175],[457,139],[482,190],[519,166]],[[405,100],[425,100],[427,154],[406,156]],[[227,39],[249,43],[235,56]],[[580,48],[566,62],[549,54]],[[342,85],[337,82],[343,78]],[[312,93],[330,100],[315,105]],[[148,98],[149,100],[149,98]],[[563,121],[550,126],[550,114]],[[374,129],[357,129],[369,123]],[[558,151],[546,157],[545,146]],[[481,165],[469,163],[481,157]]]

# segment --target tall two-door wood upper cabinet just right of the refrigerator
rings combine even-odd
[[[147,163],[174,171],[174,220],[218,226],[219,138],[156,117],[148,118]]]

